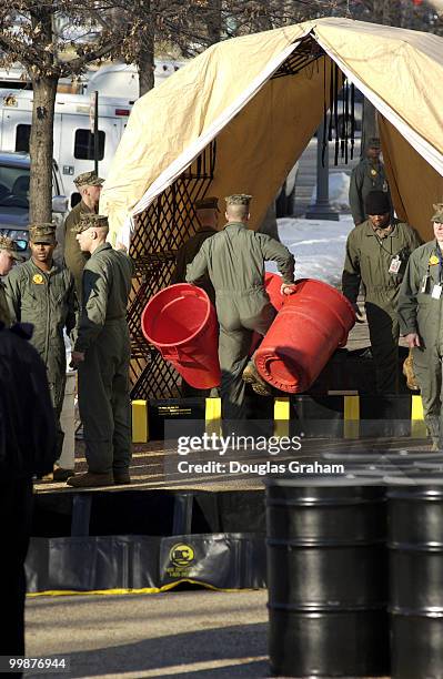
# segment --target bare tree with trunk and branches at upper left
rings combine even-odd
[[[81,73],[88,63],[124,51],[134,26],[100,28],[112,0],[10,0],[0,9],[0,64],[20,61],[33,88],[30,135],[30,220],[51,221],[53,113],[61,77]],[[93,41],[90,41],[93,33]]]

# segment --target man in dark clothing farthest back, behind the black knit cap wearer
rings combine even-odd
[[[372,136],[368,142],[366,154],[352,170],[349,202],[354,224],[361,224],[366,220],[365,200],[371,191],[384,191],[389,195],[391,209],[391,196],[380,153],[380,139]]]

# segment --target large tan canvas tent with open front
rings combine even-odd
[[[128,243],[128,217],[211,142],[211,194],[251,193],[256,226],[329,105],[332,62],[377,109],[396,211],[430,237],[443,199],[443,39],[331,18],[212,45],[135,102],[100,204],[112,240]]]

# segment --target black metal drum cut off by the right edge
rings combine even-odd
[[[443,478],[387,478],[392,677],[443,678]]]

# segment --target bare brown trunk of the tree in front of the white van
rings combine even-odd
[[[52,222],[53,116],[58,80],[57,75],[32,80],[30,222]]]

